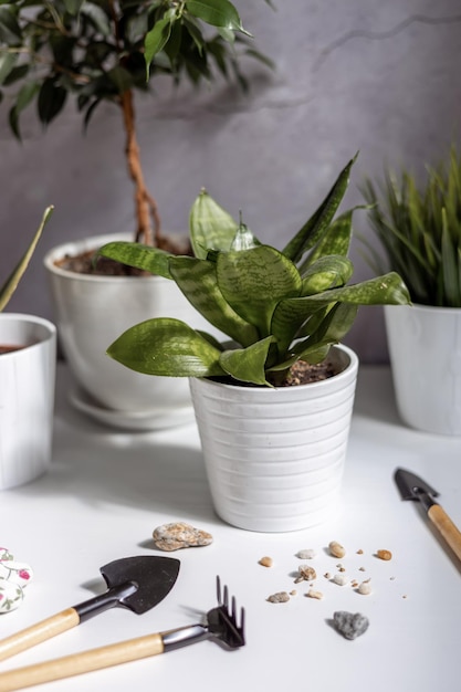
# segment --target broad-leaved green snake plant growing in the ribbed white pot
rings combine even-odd
[[[115,242],[101,253],[171,279],[235,347],[169,317],[133,326],[108,355],[149,375],[281,384],[297,360],[316,364],[349,331],[359,305],[406,304],[397,273],[348,284],[353,210],[334,219],[350,160],[301,230],[280,251],[263,244],[202,190],[190,213],[195,256]]]

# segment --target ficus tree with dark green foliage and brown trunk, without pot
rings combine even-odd
[[[163,247],[160,216],[143,174],[135,93],[148,91],[158,75],[193,85],[222,75],[245,90],[241,57],[270,63],[251,41],[230,0],[0,0],[0,102],[9,104],[18,138],[31,104],[46,126],[74,97],[85,127],[99,104],[115,104],[135,186],[136,238]]]

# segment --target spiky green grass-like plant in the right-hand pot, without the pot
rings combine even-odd
[[[427,168],[418,188],[409,172],[390,171],[379,186],[363,188],[370,221],[388,266],[405,279],[411,298],[423,305],[461,307],[461,156],[452,146],[447,161]],[[383,259],[368,242],[370,264]]]

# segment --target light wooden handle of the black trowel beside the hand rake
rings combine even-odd
[[[61,632],[65,632],[67,629],[72,629],[80,623],[80,616],[75,608],[67,608],[62,610],[51,618],[46,618],[36,625],[32,625],[7,639],[0,641],[0,661],[31,649],[41,641],[51,639]]]

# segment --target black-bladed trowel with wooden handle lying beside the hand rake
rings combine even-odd
[[[61,635],[114,606],[125,606],[138,615],[150,610],[171,590],[179,565],[179,560],[172,557],[140,556],[124,557],[101,567],[99,572],[108,586],[104,594],[1,640],[0,661]]]

